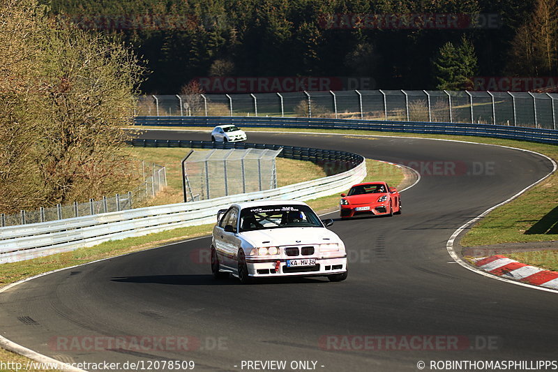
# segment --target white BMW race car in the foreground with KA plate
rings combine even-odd
[[[252,278],[326,276],[347,278],[345,244],[326,229],[304,202],[270,201],[232,204],[221,209],[213,228],[211,272],[248,283]]]

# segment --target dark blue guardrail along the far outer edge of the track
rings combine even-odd
[[[140,126],[217,126],[235,124],[246,128],[353,129],[378,132],[472,135],[548,144],[558,144],[554,129],[502,126],[494,124],[456,124],[361,119],[285,118],[285,117],[137,117]]]

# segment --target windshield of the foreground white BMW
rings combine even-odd
[[[241,231],[323,227],[322,221],[306,205],[263,205],[241,211]]]

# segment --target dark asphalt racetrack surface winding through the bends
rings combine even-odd
[[[167,131],[143,136],[209,137]],[[287,371],[294,370],[292,361],[315,361],[318,371],[417,371],[423,361],[430,371],[431,361],[558,359],[558,295],[475,274],[446,251],[456,228],[548,174],[550,161],[525,151],[437,140],[248,137],[411,163],[423,175],[402,193],[402,215],[331,227],[347,246],[346,281],[216,282],[206,237],[18,285],[0,295],[1,334],[65,361],[193,360],[199,371],[248,371],[242,361],[254,360],[285,360]],[[88,338],[79,338],[146,335],[188,336],[195,350],[86,350],[91,344],[80,342]],[[368,336],[367,344],[361,336]],[[455,340],[459,350],[453,350]]]

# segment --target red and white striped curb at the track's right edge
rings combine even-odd
[[[558,272],[541,269],[507,258],[504,255],[491,255],[478,258],[474,265],[490,274],[520,281],[522,283],[540,285],[541,287],[558,290]]]

